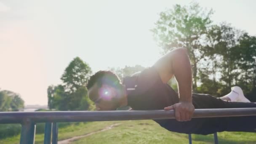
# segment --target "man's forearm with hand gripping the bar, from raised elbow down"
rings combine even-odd
[[[171,58],[171,74],[176,77],[179,85],[179,103],[165,107],[165,110],[175,110],[178,121],[191,120],[195,107],[192,104],[192,72],[187,50],[178,48],[169,54]]]

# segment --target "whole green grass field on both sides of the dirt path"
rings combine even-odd
[[[100,131],[110,125],[119,124],[106,131],[91,134],[72,144],[188,144],[188,135],[173,133],[160,127],[152,120],[130,120],[73,123],[59,129],[59,141]],[[256,133],[218,133],[220,144],[256,144]],[[43,134],[36,134],[35,144],[43,144]],[[20,136],[1,139],[0,144],[19,144]],[[193,144],[212,144],[213,135],[192,135]]]

